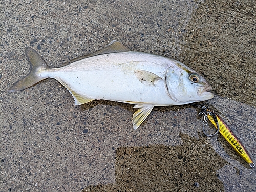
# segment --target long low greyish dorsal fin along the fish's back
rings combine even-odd
[[[116,40],[113,40],[110,43],[110,45],[106,46],[105,48],[103,48],[99,51],[96,51],[96,52],[91,53],[89,55],[84,55],[84,56],[81,56],[81,57],[77,57],[75,59],[72,59],[68,62],[65,62],[65,63],[61,64],[58,67],[67,66],[72,62],[82,60],[82,59],[85,59],[85,58],[88,58],[88,57],[93,57],[93,56],[96,56],[96,55],[103,55],[103,54],[108,54],[108,53],[120,53],[120,52],[127,52],[127,51],[131,51],[131,50],[129,48],[125,47],[124,45],[122,45],[120,42],[118,42]]]

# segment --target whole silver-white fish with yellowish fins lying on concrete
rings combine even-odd
[[[93,100],[133,104],[136,130],[154,106],[183,105],[211,99],[211,86],[183,63],[164,56],[131,51],[118,41],[92,54],[49,68],[31,47],[25,49],[30,72],[9,89],[24,90],[46,78],[59,81],[75,105]]]

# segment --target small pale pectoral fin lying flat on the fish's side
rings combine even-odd
[[[145,70],[136,70],[135,76],[147,86],[154,86],[155,81],[162,79],[158,75]]]

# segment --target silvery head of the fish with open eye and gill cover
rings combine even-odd
[[[169,96],[180,104],[205,101],[214,97],[209,92],[210,84],[197,72],[183,64],[177,69],[168,69],[165,78]]]

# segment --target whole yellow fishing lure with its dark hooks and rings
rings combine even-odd
[[[227,140],[227,142],[233,147],[233,149],[247,162],[251,168],[255,167],[255,164],[251,160],[249,153],[246,151],[239,139],[232,133],[226,123],[218,116],[214,111],[207,109],[205,106],[202,108],[202,112],[199,115],[204,114],[203,120],[203,132],[206,136],[214,136],[218,132]],[[204,131],[204,126],[207,125],[207,118],[212,125],[218,130],[215,134],[207,135]]]

